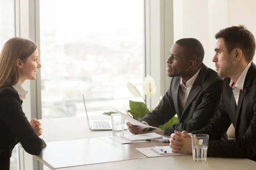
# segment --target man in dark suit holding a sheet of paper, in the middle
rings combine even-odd
[[[218,106],[222,79],[203,63],[204,48],[194,38],[177,40],[167,59],[167,75],[173,77],[169,90],[154,111],[147,113],[140,122],[158,127],[175,114],[180,124],[166,127],[165,135],[174,130],[199,130],[212,118]],[[144,129],[127,122],[131,133]]]

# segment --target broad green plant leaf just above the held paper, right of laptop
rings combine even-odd
[[[132,100],[129,100],[130,102],[130,111],[131,115],[138,119],[143,118],[146,113],[149,112],[148,108],[146,107],[145,103],[143,102],[134,102]],[[134,118],[135,119],[135,118]]]

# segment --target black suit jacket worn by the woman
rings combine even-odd
[[[18,142],[32,155],[39,155],[46,146],[29,124],[21,104],[12,86],[0,88],[0,170],[9,170],[12,149]]]

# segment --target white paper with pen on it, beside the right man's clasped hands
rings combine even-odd
[[[159,146],[159,145],[158,145]],[[166,150],[167,153],[162,152],[161,150],[157,149],[156,147],[140,147],[136,148],[136,150],[143,153],[143,155],[150,157],[158,157],[158,156],[178,156],[178,155],[186,155],[185,153],[174,153],[171,150],[170,146],[159,146],[162,149]]]

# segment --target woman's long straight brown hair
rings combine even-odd
[[[26,62],[36,49],[37,45],[34,42],[20,37],[11,38],[3,45],[0,53],[0,87],[15,85],[18,82],[18,59]]]

